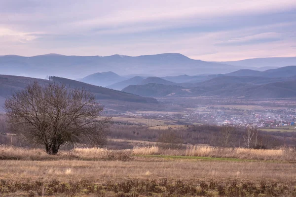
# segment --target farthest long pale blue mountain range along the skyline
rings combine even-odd
[[[178,53],[138,57],[123,55],[64,56],[58,54],[33,57],[0,56],[1,74],[39,78],[45,78],[46,75],[81,78],[89,74],[108,71],[120,73],[120,75],[134,73],[144,73],[150,76],[169,76],[174,73],[199,75],[227,73],[238,69],[240,69],[238,66],[193,60]]]

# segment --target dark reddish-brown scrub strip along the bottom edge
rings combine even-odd
[[[289,187],[290,186],[290,187]],[[170,181],[166,178],[156,180],[126,180],[107,181],[97,184],[88,180],[60,182],[53,179],[48,182],[19,182],[0,180],[0,194],[20,196],[19,193],[29,197],[55,196],[55,197],[295,197],[296,190],[291,185],[277,183],[237,183],[233,181],[221,184],[215,181],[184,182],[183,180]]]

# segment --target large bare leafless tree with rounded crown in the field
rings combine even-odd
[[[55,83],[34,82],[5,100],[11,130],[50,155],[62,145],[104,145],[110,118],[101,116],[103,108],[90,92]]]

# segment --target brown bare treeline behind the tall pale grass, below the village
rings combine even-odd
[[[0,144],[30,146],[30,144],[15,136],[4,134],[9,133],[4,115],[0,115],[0,133]],[[183,126],[178,129],[159,130],[146,126],[113,124],[110,127],[108,138],[171,144],[207,144],[210,146],[266,149],[296,146],[296,133],[294,132],[271,132],[214,125]],[[112,142],[111,146],[120,149],[132,148],[131,145],[116,145],[114,142]]]

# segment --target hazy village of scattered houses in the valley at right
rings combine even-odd
[[[185,113],[145,113],[137,114],[150,119],[175,120],[178,124],[231,125],[235,127],[286,128],[296,130],[296,108],[236,110],[229,108],[211,108]]]

